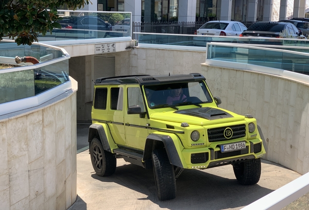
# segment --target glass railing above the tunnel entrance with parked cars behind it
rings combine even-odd
[[[131,37],[130,12],[58,10],[58,14],[62,28],[39,35],[39,41]]]

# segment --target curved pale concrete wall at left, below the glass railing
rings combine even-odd
[[[0,118],[0,209],[65,210],[76,200],[76,92]]]

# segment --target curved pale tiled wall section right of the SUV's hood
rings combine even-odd
[[[201,73],[222,99],[220,107],[257,119],[268,147],[264,158],[302,175],[309,172],[309,84],[206,64]]]

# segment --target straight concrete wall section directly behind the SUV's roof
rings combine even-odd
[[[199,72],[206,53],[196,51],[133,48],[116,54],[116,75],[180,74]]]

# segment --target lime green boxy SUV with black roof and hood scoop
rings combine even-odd
[[[153,169],[160,200],[175,198],[184,169],[231,164],[240,184],[256,184],[265,154],[257,121],[219,104],[200,73],[97,79],[88,135],[96,174],[112,175],[117,158]]]

